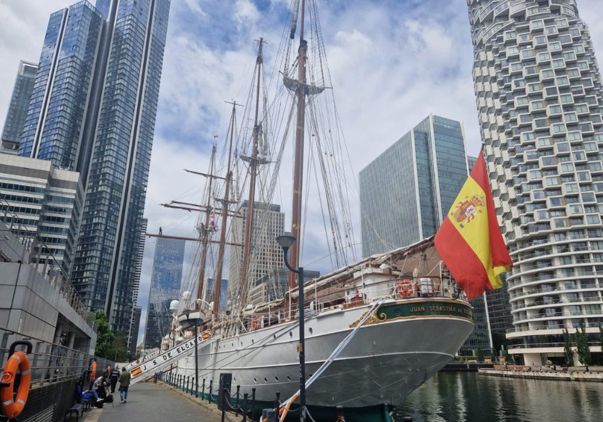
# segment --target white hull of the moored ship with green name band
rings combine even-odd
[[[446,308],[451,312],[438,315]],[[369,305],[333,309],[306,319],[307,378],[369,309]],[[389,316],[381,312],[384,309],[389,309]],[[306,390],[307,405],[341,405],[344,409],[398,405],[453,359],[473,330],[470,313],[466,302],[446,298],[385,302],[377,309],[376,317],[369,318],[335,362]],[[255,388],[260,402],[273,402],[277,391],[285,400],[299,388],[297,344],[295,321],[229,338],[216,336],[199,347],[199,383],[205,380],[207,393],[213,380],[216,394],[219,374],[232,373],[233,392],[240,385],[241,394],[251,394]],[[194,376],[194,355],[178,362],[177,373]]]

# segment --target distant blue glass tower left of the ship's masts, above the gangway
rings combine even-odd
[[[157,238],[147,307],[147,348],[159,347],[163,336],[171,328],[172,311],[169,310],[169,303],[180,297],[184,259],[185,241]]]

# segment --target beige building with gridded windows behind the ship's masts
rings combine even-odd
[[[274,269],[283,266],[283,250],[276,242],[276,236],[285,233],[285,213],[280,211],[280,205],[267,203],[254,203],[253,222],[251,224],[251,252],[248,280],[254,285],[257,279],[268,274]],[[232,222],[231,242],[242,245],[245,238],[245,221],[247,219],[248,201],[243,201],[238,215]],[[230,247],[229,260],[229,300],[237,300],[241,286],[235,280],[241,279],[243,271],[243,248],[241,246]]]

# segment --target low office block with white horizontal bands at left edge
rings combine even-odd
[[[79,174],[52,162],[0,154],[0,219],[31,247],[31,262],[68,279],[80,226]]]

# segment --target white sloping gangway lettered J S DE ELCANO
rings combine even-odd
[[[212,337],[213,334],[210,332],[210,330],[199,333],[197,335],[197,344],[199,345]],[[164,351],[163,353],[146,356],[141,362],[132,362],[131,364],[127,364],[124,368],[132,376],[130,379],[130,384],[135,384],[139,381],[147,379],[156,372],[164,370],[174,362],[183,359],[183,357],[190,356],[194,351],[195,338],[191,338]]]

